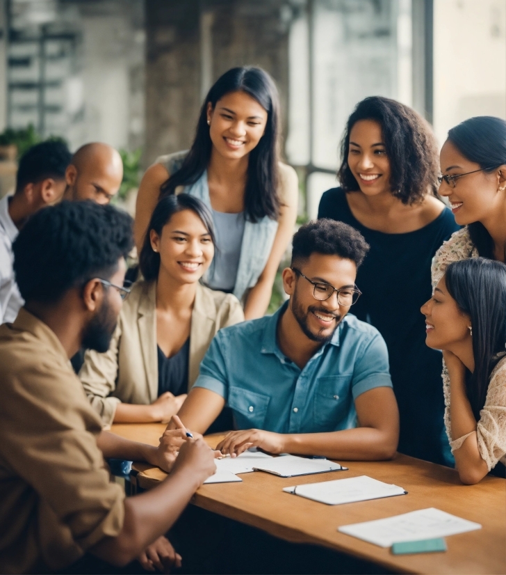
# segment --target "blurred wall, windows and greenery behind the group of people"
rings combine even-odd
[[[277,82],[313,218],[362,98],[409,104],[440,143],[465,118],[506,119],[506,1],[0,0],[0,196],[19,153],[60,136],[122,151],[131,210],[143,169],[188,148],[206,91],[244,64]]]

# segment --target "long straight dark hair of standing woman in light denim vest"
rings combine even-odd
[[[244,211],[248,220],[256,222],[264,216],[277,219],[281,201],[277,191],[279,159],[279,97],[272,78],[261,68],[242,66],[225,72],[209,90],[197,123],[195,140],[178,171],[161,186],[161,194],[174,194],[178,186],[195,184],[209,164],[213,143],[207,124],[207,105],[231,92],[245,92],[267,111],[266,131],[250,152]]]

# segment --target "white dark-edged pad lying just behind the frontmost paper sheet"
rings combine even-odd
[[[283,491],[313,499],[313,501],[319,501],[320,503],[326,503],[327,505],[368,501],[369,499],[393,497],[407,493],[398,485],[384,483],[367,475],[295,485],[295,487],[285,487]]]

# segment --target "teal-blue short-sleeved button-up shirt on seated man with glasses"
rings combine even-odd
[[[220,329],[195,387],[225,397],[239,430],[316,433],[356,427],[354,400],[392,386],[382,336],[348,314],[300,370],[277,345],[277,322],[287,305],[274,315]]]

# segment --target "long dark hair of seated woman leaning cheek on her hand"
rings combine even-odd
[[[485,258],[452,262],[446,288],[463,313],[471,317],[475,369],[466,391],[476,420],[480,419],[493,368],[505,355],[506,265]]]

